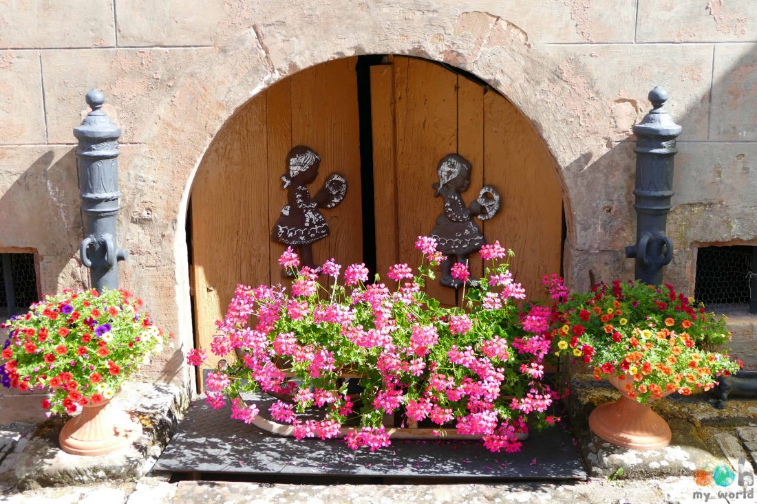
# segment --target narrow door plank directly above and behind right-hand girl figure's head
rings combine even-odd
[[[471,185],[463,193],[463,201],[470,206],[484,185],[484,87],[461,75],[457,76],[457,153],[471,163]],[[485,221],[474,222],[488,241],[499,239],[486,234]],[[481,256],[471,254],[469,266],[471,278],[481,278]]]

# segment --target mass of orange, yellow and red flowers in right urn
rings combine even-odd
[[[627,374],[626,389],[642,403],[672,391],[711,388],[739,367],[727,354],[709,350],[730,339],[724,319],[706,313],[671,285],[600,284],[591,292],[569,294],[557,310],[553,328],[581,324],[583,329],[582,334],[556,331],[558,353],[590,345],[596,350],[581,354],[581,360],[593,367],[595,377]],[[614,317],[618,322],[611,324]]]

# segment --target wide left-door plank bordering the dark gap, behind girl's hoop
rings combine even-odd
[[[344,201],[321,210],[331,234],[313,244],[318,264],[331,257],[344,266],[363,260],[356,63],[357,58],[329,61],[291,77],[292,146],[307,145],[321,157],[310,194],[316,194],[332,173],[347,179]]]

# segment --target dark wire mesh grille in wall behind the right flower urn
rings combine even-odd
[[[694,297],[720,308],[749,304],[752,248],[746,245],[701,247],[696,254]]]

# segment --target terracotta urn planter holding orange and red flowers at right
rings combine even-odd
[[[650,408],[628,397],[625,380],[606,375],[621,394],[614,403],[597,406],[589,415],[589,428],[608,443],[633,450],[658,450],[670,444],[668,422]],[[633,379],[629,375],[627,379]],[[663,393],[663,397],[670,394]]]

